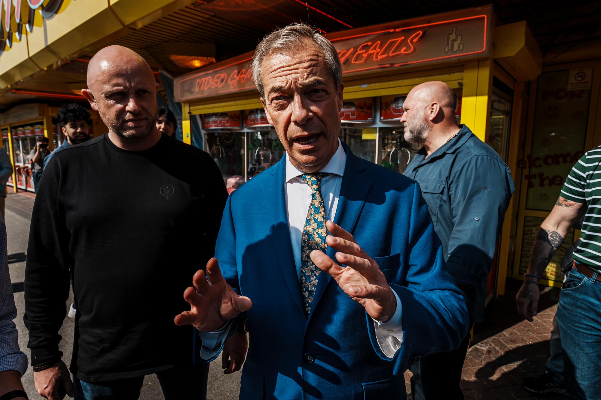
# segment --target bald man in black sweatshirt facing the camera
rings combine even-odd
[[[215,251],[224,181],[209,154],[156,128],[158,85],[138,54],[100,50],[87,83],[109,132],[50,160],[32,213],[24,319],[35,387],[50,400],[136,399],[156,373],[166,399],[204,399],[208,366],[192,365],[193,329],[172,320]],[[73,385],[58,335],[70,269]]]

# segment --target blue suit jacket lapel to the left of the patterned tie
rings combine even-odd
[[[261,184],[261,193],[263,194],[263,205],[267,208],[272,223],[270,235],[273,239],[273,245],[278,255],[284,279],[299,311],[301,311],[302,315],[305,315],[301,283],[299,283],[296,273],[296,264],[294,264],[292,245],[290,243],[290,228],[288,225],[284,187],[286,182],[285,160],[285,157],[283,157],[275,166],[263,172],[264,174],[272,174],[270,178],[273,181]],[[299,243],[299,246],[301,246],[301,243]]]

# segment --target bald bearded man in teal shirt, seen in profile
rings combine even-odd
[[[457,125],[457,96],[447,83],[415,86],[403,103],[406,141],[423,145],[405,175],[416,180],[442,241],[445,268],[468,298],[471,323],[484,321],[487,277],[514,186],[495,151]],[[463,399],[459,387],[469,333],[459,348],[410,367],[414,400]]]

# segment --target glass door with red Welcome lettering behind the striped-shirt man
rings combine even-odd
[[[600,66],[599,61],[553,65],[532,81],[524,156],[517,160],[516,171],[520,197],[513,277],[518,279],[523,279],[538,228],[554,207],[570,169],[594,147]],[[561,286],[561,258],[578,236],[574,230],[567,234],[541,283]]]

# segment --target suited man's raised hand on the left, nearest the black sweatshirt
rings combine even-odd
[[[250,298],[240,296],[225,282],[216,258],[207,262],[206,274],[203,270],[194,274],[192,285],[184,292],[190,311],[177,315],[175,325],[192,325],[203,332],[213,332],[252,307]]]

